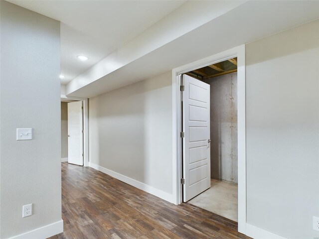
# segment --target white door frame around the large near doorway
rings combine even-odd
[[[238,126],[238,232],[246,233],[246,63],[245,45],[214,54],[172,70],[172,195],[173,202],[182,203],[182,138],[181,75],[208,65],[237,57],[237,126]]]

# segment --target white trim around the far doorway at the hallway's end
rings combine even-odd
[[[83,166],[89,166],[89,99],[81,97],[68,97],[61,95],[61,102],[83,101]]]

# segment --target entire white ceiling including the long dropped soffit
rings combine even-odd
[[[68,97],[93,97],[319,18],[318,0],[9,1],[61,21]]]

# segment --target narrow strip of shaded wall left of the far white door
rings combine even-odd
[[[68,103],[61,102],[61,158],[68,157]]]

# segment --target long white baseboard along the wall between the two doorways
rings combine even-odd
[[[153,195],[155,195],[155,196],[157,196],[157,197],[159,197],[159,198],[161,198],[161,199],[163,199],[165,201],[168,201],[170,203],[174,203],[172,194],[166,193],[164,191],[161,191],[160,189],[154,188],[154,187],[152,187],[150,185],[147,185],[145,183],[141,183],[141,182],[139,182],[139,181],[137,181],[137,180],[135,180],[133,178],[129,178],[127,176],[124,176],[122,174],[114,172],[114,171],[112,171],[110,169],[101,167],[101,166],[99,166],[97,164],[89,163],[89,166],[91,168],[99,170],[99,171],[101,171],[103,173],[106,173],[106,174],[108,174],[108,175],[110,175],[110,176],[112,176],[112,177],[114,177],[114,178],[116,178],[116,179],[118,179],[118,180],[120,180],[122,182],[125,182],[125,183],[127,183],[127,184],[129,184],[129,185],[131,185],[133,187],[141,189],[141,190],[143,190],[143,191],[145,191],[147,193],[153,194]]]

